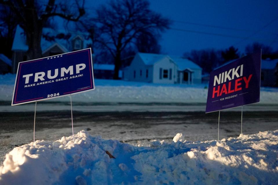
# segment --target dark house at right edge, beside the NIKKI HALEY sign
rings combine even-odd
[[[275,75],[277,63],[278,59],[261,60],[261,86],[275,86],[277,82],[277,75]]]

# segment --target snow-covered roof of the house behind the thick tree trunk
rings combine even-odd
[[[59,37],[60,35],[60,37]],[[65,36],[63,38],[63,36]],[[76,37],[82,38],[82,33],[69,33],[65,30],[54,30],[52,28],[43,28],[43,35],[41,38],[41,49],[44,53],[47,49],[51,48],[54,45],[58,45],[63,51],[69,52],[72,51],[72,39]],[[83,38],[83,48],[87,44],[91,43],[89,39]],[[14,41],[12,44],[12,51],[27,51],[28,45],[26,43],[26,36],[24,30],[17,25]]]

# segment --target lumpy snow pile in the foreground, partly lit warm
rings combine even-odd
[[[220,142],[135,147],[85,131],[14,148],[0,184],[277,184],[278,130]],[[110,156],[109,156],[110,154]],[[114,156],[115,158],[110,158]]]

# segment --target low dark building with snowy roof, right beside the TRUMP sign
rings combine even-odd
[[[94,64],[94,78],[113,79],[115,65],[113,64]],[[119,78],[122,78],[122,71],[119,71]]]

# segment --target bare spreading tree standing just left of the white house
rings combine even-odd
[[[142,32],[158,34],[169,28],[170,21],[149,9],[147,0],[110,1],[96,11],[94,38],[114,58],[114,79],[118,79],[122,51],[134,45]]]

